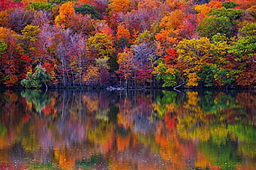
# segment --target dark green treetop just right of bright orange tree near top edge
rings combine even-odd
[[[92,18],[99,19],[100,17],[100,14],[95,10],[95,7],[89,4],[83,4],[82,6],[75,8],[75,11],[83,15],[90,14]]]

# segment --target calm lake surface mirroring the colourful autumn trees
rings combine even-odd
[[[254,91],[0,91],[0,169],[255,169]]]

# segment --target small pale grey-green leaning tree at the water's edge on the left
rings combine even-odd
[[[27,73],[26,79],[23,79],[20,83],[26,88],[41,88],[45,85],[47,89],[47,82],[51,79],[51,76],[45,72],[42,66],[36,66],[35,73]]]

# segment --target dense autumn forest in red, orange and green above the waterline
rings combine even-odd
[[[255,88],[253,0],[2,0],[1,87]]]

